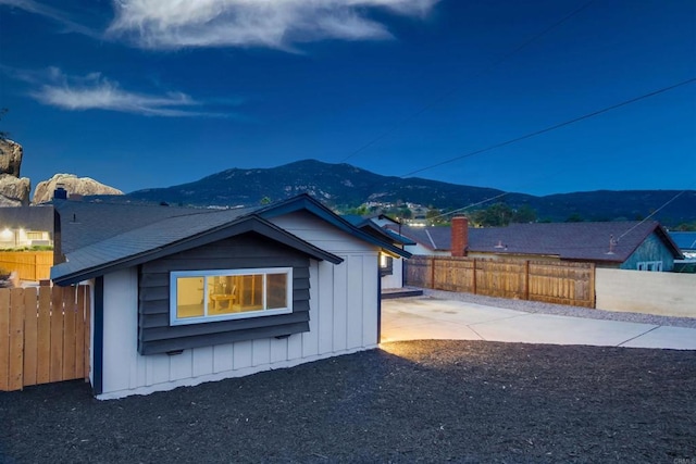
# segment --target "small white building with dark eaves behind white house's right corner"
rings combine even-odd
[[[383,224],[399,224],[397,221],[381,214],[375,217],[362,217],[358,215],[341,216],[353,226],[365,234],[391,243],[403,250],[405,246],[414,246],[415,242],[389,229],[382,228]],[[394,290],[403,287],[403,259],[394,253],[381,253],[380,255],[381,288],[383,290]]]

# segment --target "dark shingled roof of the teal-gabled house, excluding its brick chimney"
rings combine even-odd
[[[402,227],[401,233],[431,250],[450,250],[450,227]],[[675,259],[676,244],[655,221],[605,223],[511,224],[469,228],[469,251],[495,254],[538,254],[561,260],[624,262],[650,234]],[[613,237],[614,244],[610,247]]]

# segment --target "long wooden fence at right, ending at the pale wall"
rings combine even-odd
[[[527,260],[412,256],[406,285],[595,308],[595,265]]]

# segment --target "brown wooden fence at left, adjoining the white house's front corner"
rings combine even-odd
[[[0,390],[89,375],[89,287],[0,289]]]

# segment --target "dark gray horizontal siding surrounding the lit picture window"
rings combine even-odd
[[[170,272],[261,267],[293,267],[293,313],[170,326]],[[309,331],[309,258],[263,236],[244,234],[142,264],[138,298],[140,354]]]

